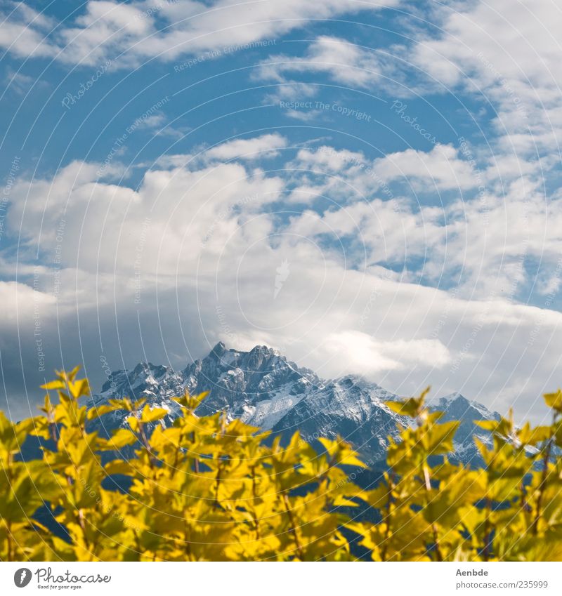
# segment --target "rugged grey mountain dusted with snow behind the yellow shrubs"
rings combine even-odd
[[[322,379],[264,345],[239,352],[218,343],[207,357],[178,372],[150,363],[138,364],[129,371],[116,371],[101,392],[92,395],[89,407],[95,408],[115,397],[143,397],[151,406],[169,411],[162,420],[162,424],[169,425],[179,410],[171,398],[184,390],[192,394],[210,392],[197,409],[202,416],[226,411],[229,419],[240,418],[271,430],[273,435],[287,437],[299,430],[309,442],[318,437],[341,435],[370,465],[384,460],[388,435],[398,435],[397,423],[410,423],[384,404],[399,397],[376,383],[360,376]],[[478,435],[486,442],[490,436],[473,421],[497,419],[499,414],[460,394],[436,399],[430,408],[443,411],[443,420],[461,421],[452,458],[479,465],[473,436]],[[126,425],[125,418],[123,411],[106,414],[93,423],[93,428],[107,436],[115,428]]]

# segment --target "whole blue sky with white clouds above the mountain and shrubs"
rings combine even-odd
[[[222,340],[543,420],[561,30],[554,0],[0,1],[0,407]]]

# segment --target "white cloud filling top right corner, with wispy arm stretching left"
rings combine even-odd
[[[398,98],[462,91],[478,102],[483,134],[509,177],[530,163],[543,171],[556,166],[562,16],[553,1],[459,2],[424,6],[418,14],[435,27],[407,21],[399,45],[370,48],[323,35],[300,54],[272,53],[258,75],[286,88],[297,75],[325,74],[342,86]]]

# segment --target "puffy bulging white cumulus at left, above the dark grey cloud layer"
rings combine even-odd
[[[195,171],[153,169],[138,191],[98,182],[98,170],[99,164],[75,161],[52,180],[14,185],[9,223],[22,230],[22,244],[52,246],[63,219],[72,222],[65,229],[63,265],[130,274],[148,220],[146,271],[174,276],[177,267],[196,262],[201,248],[194,251],[194,246],[204,243],[207,252],[213,251],[217,237],[236,225],[234,215],[242,206],[255,209],[280,190],[277,178],[248,173],[236,163]]]

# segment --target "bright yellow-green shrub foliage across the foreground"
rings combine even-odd
[[[348,473],[365,465],[343,440],[320,439],[321,453],[298,433],[267,442],[223,413],[196,416],[204,394],[178,397],[182,415],[164,428],[168,412],[142,401],[80,405],[89,385],[77,369],[44,388],[41,416],[12,423],[0,412],[3,561],[340,561],[359,552],[350,541],[374,561],[562,560],[560,391],[545,396],[549,426],[480,423],[493,436],[492,447],[477,442],[482,469],[447,460],[458,423],[440,423],[425,392],[387,402],[412,425],[391,441],[381,481],[363,490]],[[87,430],[115,410],[130,412],[128,428],[110,439]],[[52,448],[21,461],[30,435]],[[116,458],[124,448],[135,456]],[[127,491],[104,487],[115,475]],[[67,538],[34,519],[45,504]]]

